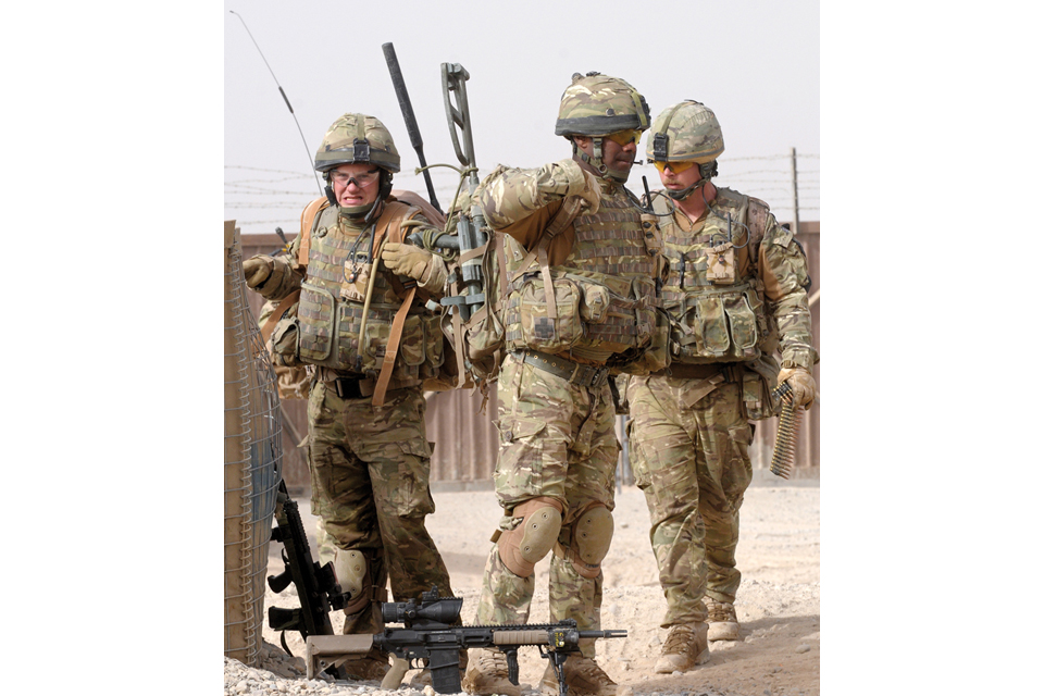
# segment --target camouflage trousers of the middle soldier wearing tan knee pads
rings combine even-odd
[[[501,529],[510,529],[513,508],[536,497],[564,508],[562,531],[550,561],[549,621],[574,619],[581,630],[601,626],[602,574],[584,577],[564,558],[572,525],[593,505],[613,508],[613,482],[620,445],[608,384],[586,388],[522,364],[508,356],[497,386],[500,451],[494,483],[505,509]],[[494,545],[486,561],[477,624],[526,623],[535,580],[508,570]],[[543,623],[543,621],[536,621]],[[581,650],[595,656],[594,641]]]

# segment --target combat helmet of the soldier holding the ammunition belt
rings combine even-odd
[[[681,191],[667,191],[675,200],[687,198],[697,186],[718,175],[718,157],[725,151],[714,112],[687,99],[668,107],[652,122],[645,154],[652,162],[695,162],[699,181]]]

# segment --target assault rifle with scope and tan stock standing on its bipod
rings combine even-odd
[[[576,622],[567,619],[558,623],[531,623],[519,625],[459,626],[451,625],[460,619],[463,599],[439,597],[438,589],[414,599],[381,605],[381,616],[386,623],[401,623],[405,629],[385,629],[376,635],[316,635],[306,641],[304,662],[308,679],[321,671],[341,664],[352,655],[364,655],[377,648],[395,656],[395,664],[388,671],[381,688],[394,691],[399,687],[406,671],[426,668],[432,674],[432,688],[439,694],[460,692],[460,650],[467,648],[497,648],[508,660],[508,680],[519,684],[519,648],[535,645],[540,657],[550,660],[558,678],[559,696],[567,696],[566,658],[580,651],[584,638],[623,638],[626,631],[579,631]]]

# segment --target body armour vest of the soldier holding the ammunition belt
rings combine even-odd
[[[757,213],[768,207],[719,188],[703,228],[693,233],[679,228],[666,197],[657,196],[654,208],[662,215],[670,268],[660,298],[670,318],[671,362],[736,362],[771,353],[778,338],[757,270],[766,221]]]

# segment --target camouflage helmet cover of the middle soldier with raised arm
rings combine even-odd
[[[600,73],[574,73],[562,92],[555,135],[599,136],[648,127],[649,104],[630,84]]]

